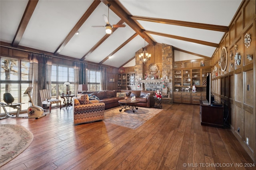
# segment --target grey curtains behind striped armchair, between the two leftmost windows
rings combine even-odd
[[[32,100],[36,106],[42,106],[39,90],[51,90],[52,57],[41,54],[29,54],[29,81],[33,86]]]

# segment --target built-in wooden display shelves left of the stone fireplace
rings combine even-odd
[[[118,87],[123,90],[135,87],[135,72],[118,74]]]

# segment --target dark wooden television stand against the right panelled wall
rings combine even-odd
[[[200,100],[201,125],[224,128],[224,107],[203,104]]]

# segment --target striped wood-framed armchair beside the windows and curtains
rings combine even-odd
[[[50,113],[51,113],[52,104],[60,103],[60,109],[61,109],[61,100],[59,100],[57,98],[52,98],[50,90],[43,89],[43,90],[39,90],[39,91],[40,91],[40,96],[41,96],[42,107],[43,107],[43,105],[49,105],[49,109],[50,109]]]

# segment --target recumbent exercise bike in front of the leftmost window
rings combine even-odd
[[[4,94],[4,102],[6,103],[2,103],[0,102],[0,106],[3,107],[4,109],[4,112],[5,112],[5,116],[4,117],[1,117],[0,120],[2,119],[6,119],[8,117],[11,117],[11,118],[36,118],[36,119],[39,119],[41,117],[44,117],[46,116],[46,114],[43,114],[44,113],[44,109],[40,106],[35,106],[32,98],[31,98],[31,95],[30,95],[30,92],[32,91],[33,87],[28,87],[26,89],[26,91],[24,92],[25,95],[28,95],[29,97],[29,101],[32,106],[29,106],[28,109],[27,109],[27,113],[28,113],[28,116],[25,116],[25,117],[19,117],[19,114],[20,114],[20,106],[22,103],[16,103],[16,104],[12,104],[12,102],[14,102],[14,98],[12,97],[12,95],[10,93],[5,93]],[[12,107],[13,109],[17,109],[17,112],[16,112],[16,116],[14,116],[13,114],[10,115],[10,113],[8,113],[8,111],[6,110],[5,107]]]

